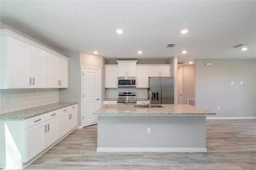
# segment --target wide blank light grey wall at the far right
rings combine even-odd
[[[208,117],[255,117],[256,59],[196,59],[195,103]]]

